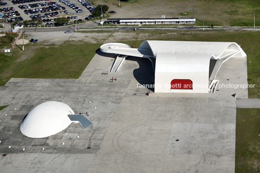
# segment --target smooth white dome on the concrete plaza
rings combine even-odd
[[[48,101],[36,106],[28,113],[20,130],[22,134],[30,138],[51,136],[71,124],[68,114],[74,114],[74,111],[65,103]]]

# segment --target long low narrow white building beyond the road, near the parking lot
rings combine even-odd
[[[108,18],[107,23],[124,25],[151,25],[151,24],[195,24],[196,19],[192,17],[179,18]]]

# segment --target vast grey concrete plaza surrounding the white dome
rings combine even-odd
[[[7,154],[1,156],[1,172],[234,172],[236,98],[231,94],[247,98],[247,89],[153,93],[137,87],[154,83],[149,60],[129,57],[118,72],[102,75],[113,61],[97,51],[79,79],[10,79],[0,87],[0,105],[10,105],[0,111],[0,154]],[[109,82],[112,77],[117,80]],[[217,79],[246,83],[246,59],[228,60]],[[75,113],[87,111],[93,125],[71,124],[42,139],[22,135],[24,116],[50,100]]]

